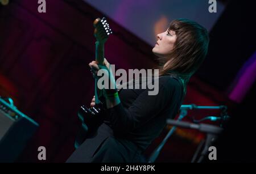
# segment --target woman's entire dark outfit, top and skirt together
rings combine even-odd
[[[121,103],[107,109],[94,137],[87,138],[67,162],[145,162],[143,151],[174,118],[183,101],[183,84],[171,76],[159,78],[159,92],[122,89]]]

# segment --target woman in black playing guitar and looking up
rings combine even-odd
[[[104,89],[104,123],[67,162],[145,162],[144,150],[165,128],[166,119],[179,111],[188,80],[203,62],[209,43],[207,30],[188,19],[172,21],[157,39],[152,52],[160,62],[158,94],[148,95],[148,89]],[[106,59],[104,66],[95,61],[89,66],[94,75],[99,69],[110,70]],[[95,105],[94,98],[90,105]]]

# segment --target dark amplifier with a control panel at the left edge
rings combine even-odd
[[[9,101],[9,103],[7,102]],[[39,124],[0,97],[0,162],[15,162]]]

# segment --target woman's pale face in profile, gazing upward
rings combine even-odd
[[[155,47],[152,49],[152,52],[158,56],[163,57],[166,54],[170,53],[174,48],[174,43],[176,41],[175,31],[168,31],[168,29],[157,35],[158,41],[156,41]]]

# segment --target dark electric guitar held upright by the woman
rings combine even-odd
[[[94,26],[94,36],[96,37],[96,63],[98,65],[103,65],[104,63],[104,44],[112,34],[112,29],[110,29],[106,18],[97,18],[93,22]],[[82,105],[79,109],[78,116],[82,122],[82,127],[79,134],[76,137],[75,147],[81,145],[86,138],[93,136],[96,133],[98,126],[103,121],[102,115],[104,115],[104,107],[101,100],[104,100],[102,90],[97,88],[97,78],[95,78],[94,83],[94,93],[95,93],[95,106],[87,108]]]

